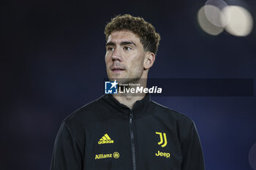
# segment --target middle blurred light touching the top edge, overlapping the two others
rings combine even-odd
[[[210,23],[217,27],[225,27],[227,25],[226,15],[222,9],[228,7],[227,3],[222,0],[208,0],[205,5],[206,18]]]

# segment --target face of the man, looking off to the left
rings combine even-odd
[[[105,63],[108,78],[124,79],[124,82],[140,79],[145,55],[140,38],[132,31],[113,31],[106,44]]]

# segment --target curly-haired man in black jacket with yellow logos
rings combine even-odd
[[[109,79],[146,87],[140,80],[148,77],[160,39],[154,26],[118,15],[105,35]],[[56,136],[51,170],[82,169],[203,170],[203,152],[192,120],[148,93],[105,94],[69,115]]]

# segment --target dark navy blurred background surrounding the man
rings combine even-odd
[[[255,22],[256,1],[229,3]],[[141,16],[161,35],[151,78],[256,79],[255,25],[248,36],[207,34],[197,22],[205,1],[27,4],[0,7],[1,170],[50,168],[61,120],[103,94],[103,31],[115,15]],[[207,170],[256,169],[255,94],[152,98],[195,121]]]

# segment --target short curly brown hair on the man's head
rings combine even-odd
[[[150,51],[157,55],[157,49],[160,41],[160,35],[155,31],[151,23],[146,22],[143,18],[133,17],[132,15],[118,15],[112,18],[105,26],[106,40],[113,31],[128,30],[140,37],[140,42],[144,50]]]

